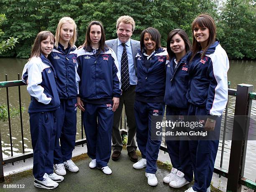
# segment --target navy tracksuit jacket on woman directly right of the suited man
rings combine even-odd
[[[136,86],[136,100],[141,102],[164,102],[165,92],[165,64],[167,52],[162,48],[147,60],[147,57],[138,50],[136,67],[138,84]]]

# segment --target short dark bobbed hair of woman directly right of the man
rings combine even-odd
[[[145,30],[141,32],[141,52],[146,52],[146,47],[144,45],[144,35],[145,33],[148,33],[151,35],[152,40],[156,42],[156,49],[161,47],[161,34],[160,32],[155,29],[154,27],[148,27]]]

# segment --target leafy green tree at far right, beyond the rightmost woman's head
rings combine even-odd
[[[221,12],[220,41],[230,59],[255,59],[255,0],[227,0]]]

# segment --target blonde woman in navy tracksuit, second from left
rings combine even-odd
[[[66,169],[77,172],[79,168],[71,160],[77,133],[77,25],[70,17],[62,17],[55,34],[54,50],[49,60],[56,70],[56,84],[61,102],[56,112],[57,131],[54,146],[54,170],[66,175]],[[59,145],[59,142],[61,146]]]

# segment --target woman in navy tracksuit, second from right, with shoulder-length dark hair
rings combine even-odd
[[[184,121],[187,118],[188,102],[188,62],[191,43],[182,29],[172,30],[167,37],[167,52],[170,59],[166,62],[166,120]],[[168,127],[166,127],[167,130]],[[184,131],[177,127],[177,131]],[[179,188],[193,180],[193,170],[187,140],[166,137],[167,150],[172,162],[172,171],[164,177],[164,182]]]

